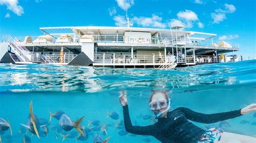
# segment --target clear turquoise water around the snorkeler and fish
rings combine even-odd
[[[84,116],[82,125],[87,120],[99,120],[102,125],[113,124],[123,119],[122,106],[119,103],[119,91],[125,89],[129,100],[130,115],[133,124],[150,125],[154,120],[147,102],[154,83],[160,82],[171,90],[171,110],[185,106],[194,111],[216,113],[241,109],[256,103],[256,60],[235,63],[215,63],[173,70],[158,69],[113,69],[79,66],[51,65],[8,65],[0,64],[0,117],[9,119],[10,131],[2,135],[3,142],[21,142],[20,123],[26,124],[29,115],[29,103],[33,102],[33,112],[38,118],[49,119],[49,110],[64,111],[72,120]],[[107,112],[117,112],[118,120],[106,118]],[[204,129],[218,127],[194,123]],[[249,113],[228,120],[223,126],[225,131],[245,135],[256,134],[256,117]],[[62,142],[62,137],[50,129],[58,125],[51,120],[48,137],[38,139],[31,137],[32,142]],[[90,125],[93,127],[93,125]],[[122,126],[108,126],[107,135],[96,131],[83,142],[93,142],[93,134],[99,133],[103,139],[110,137],[109,142],[159,142],[154,137],[142,135],[119,135]],[[73,129],[72,131],[75,131]],[[26,135],[29,137],[31,133]],[[67,138],[64,142],[76,142]],[[82,142],[82,141],[77,141]]]

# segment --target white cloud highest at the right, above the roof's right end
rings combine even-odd
[[[213,23],[219,24],[224,19],[226,19],[226,13],[233,13],[235,12],[236,8],[233,4],[225,4],[225,10],[217,9],[215,13],[211,13],[211,17],[213,19]]]

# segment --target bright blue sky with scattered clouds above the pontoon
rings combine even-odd
[[[256,56],[255,0],[0,0],[0,34],[41,35],[39,27],[123,26],[125,8],[133,27],[217,34],[239,44],[238,55]]]

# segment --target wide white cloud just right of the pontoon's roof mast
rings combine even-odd
[[[157,28],[166,28],[166,23],[163,23],[163,18],[152,15],[152,17],[133,17],[132,22],[136,23],[137,25],[141,25],[144,27],[157,27]]]

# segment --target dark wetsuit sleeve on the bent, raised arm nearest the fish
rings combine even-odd
[[[129,115],[128,105],[123,106],[124,113],[124,126],[125,130],[129,133],[139,134],[139,135],[152,135],[154,131],[154,125],[149,126],[133,126],[131,122],[131,118]]]

